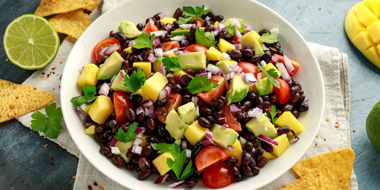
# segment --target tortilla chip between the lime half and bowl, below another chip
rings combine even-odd
[[[84,9],[60,13],[49,19],[49,22],[59,33],[67,34],[78,40],[79,36],[91,24],[88,14],[83,13]]]

